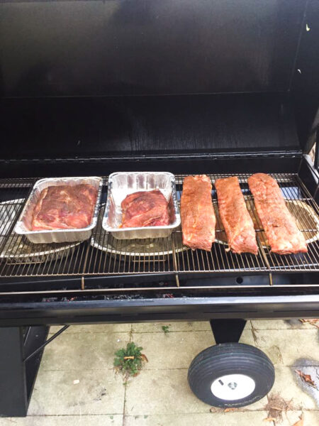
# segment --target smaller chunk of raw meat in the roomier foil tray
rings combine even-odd
[[[167,200],[159,190],[134,192],[125,197],[121,207],[122,228],[169,225]]]

